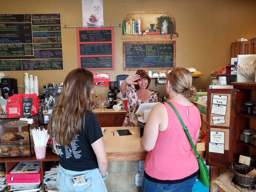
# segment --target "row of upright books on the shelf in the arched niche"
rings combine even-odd
[[[130,19],[129,21],[123,21],[123,33],[124,35],[141,35],[142,33],[142,22],[140,19],[135,21]]]

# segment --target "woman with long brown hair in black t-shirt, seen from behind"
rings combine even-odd
[[[49,119],[48,133],[59,155],[57,188],[61,192],[107,191],[108,158],[97,116],[92,112],[93,75],[77,68],[68,73],[57,105]],[[73,178],[81,176],[81,183]],[[81,184],[81,185],[80,185]]]

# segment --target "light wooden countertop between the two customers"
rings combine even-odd
[[[140,147],[139,127],[104,127],[107,128],[103,137],[108,161],[139,161],[145,160],[147,151]],[[132,135],[119,136],[117,129],[129,129]],[[113,136],[113,131],[115,135]]]

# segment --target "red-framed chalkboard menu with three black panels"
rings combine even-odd
[[[78,28],[77,52],[80,68],[115,69],[113,28]]]

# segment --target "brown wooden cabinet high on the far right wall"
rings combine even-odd
[[[237,55],[256,54],[256,41],[242,41],[231,44],[231,58]]]

